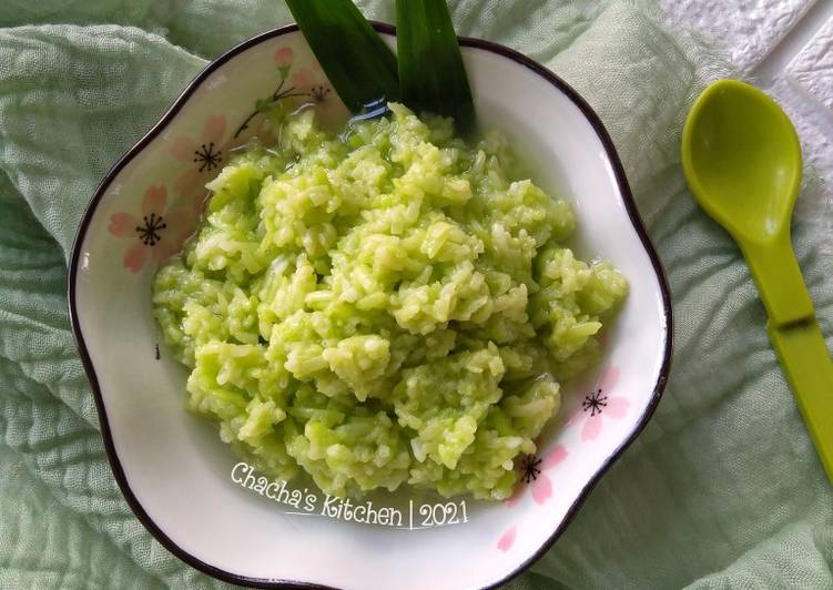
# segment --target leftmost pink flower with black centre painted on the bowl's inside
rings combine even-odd
[[[113,213],[108,231],[111,235],[133,243],[124,252],[123,265],[138,273],[150,260],[164,261],[182,250],[185,238],[193,232],[199,216],[199,203],[177,203],[165,208],[167,189],[149,186],[142,199],[141,217],[128,212]]]

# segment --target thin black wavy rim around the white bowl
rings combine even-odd
[[[382,22],[373,22],[373,26],[377,31],[382,33],[396,34],[396,28],[390,24],[382,23]],[[118,481],[119,487],[121,488],[121,491],[124,495],[124,498],[128,500],[128,505],[130,506],[131,510],[133,510],[133,512],[142,522],[142,525],[144,525],[144,527],[156,538],[156,540],[160,543],[162,543],[169,551],[171,551],[174,556],[180,558],[185,563],[210,576],[213,576],[214,578],[217,578],[220,580],[238,584],[238,586],[248,586],[248,587],[255,587],[255,588],[332,588],[332,587],[326,587],[326,586],[321,586],[321,584],[315,584],[315,583],[309,583],[309,582],[298,582],[294,580],[250,578],[246,576],[240,576],[236,573],[225,571],[215,566],[206,563],[197,559],[196,557],[192,556],[191,553],[184,551],[170,537],[167,537],[167,535],[165,535],[162,531],[162,529],[151,519],[148,512],[145,512],[144,508],[142,508],[142,505],[139,502],[136,497],[133,495],[133,491],[130,489],[130,486],[128,485],[128,479],[124,475],[124,469],[121,466],[119,456],[115,452],[115,447],[113,446],[113,438],[110,431],[110,424],[106,418],[104,400],[101,395],[101,389],[99,387],[99,382],[95,375],[95,369],[93,367],[92,360],[90,359],[90,355],[87,349],[87,344],[84,343],[83,334],[81,333],[81,329],[79,327],[78,309],[75,305],[75,284],[77,284],[77,277],[78,277],[79,262],[81,257],[81,245],[83,244],[84,237],[87,236],[87,231],[89,228],[89,225],[93,217],[95,208],[99,202],[101,201],[102,196],[106,192],[108,187],[112,183],[113,179],[122,171],[122,169],[124,169],[124,166],[126,166],[133,160],[133,157],[135,157],[151,141],[153,141],[167,126],[167,124],[174,119],[174,116],[185,105],[191,94],[194,93],[194,91],[214,72],[214,70],[216,70],[219,67],[221,67],[222,64],[224,64],[225,62],[227,62],[228,60],[231,60],[238,53],[242,53],[264,41],[267,41],[270,39],[274,39],[276,37],[281,37],[287,33],[293,33],[296,31],[298,31],[297,24],[288,24],[286,27],[281,27],[277,29],[273,29],[271,31],[266,31],[251,39],[247,39],[246,41],[243,41],[238,45],[235,45],[234,48],[230,49],[228,51],[220,55],[216,60],[212,61],[209,65],[205,67],[205,69],[202,72],[197,74],[196,78],[194,78],[193,81],[191,81],[191,83],[185,88],[185,90],[183,90],[180,96],[174,101],[174,103],[165,112],[165,114],[162,115],[159,122],[156,122],[153,125],[153,128],[141,140],[139,140],[139,142],[136,142],[128,151],[128,153],[124,154],[124,156],[122,156],[115,163],[115,165],[113,165],[110,172],[108,172],[106,176],[104,176],[104,180],[101,181],[101,184],[99,184],[89,205],[87,206],[87,210],[84,211],[83,217],[81,218],[81,224],[79,226],[78,234],[75,235],[75,241],[72,245],[72,257],[70,261],[69,281],[68,281],[68,302],[69,302],[70,323],[72,327],[72,334],[75,338],[75,344],[78,345],[78,349],[81,355],[81,360],[83,363],[84,370],[87,372],[87,375],[90,379],[90,385],[92,387],[92,391],[95,397],[95,408],[98,410],[99,420],[101,423],[101,435],[104,439],[104,448],[106,450],[108,460],[110,461],[110,467],[113,470],[115,480]],[[633,201],[633,195],[630,191],[628,180],[624,175],[624,169],[622,167],[622,163],[619,160],[619,155],[617,154],[616,148],[613,146],[613,142],[610,139],[610,135],[608,134],[607,130],[605,129],[605,125],[602,125],[601,120],[592,110],[592,108],[587,103],[587,101],[585,101],[585,99],[582,99],[578,94],[578,92],[576,92],[569,84],[567,84],[567,82],[561,80],[558,75],[549,71],[547,68],[545,68],[540,63],[531,60],[530,58],[527,58],[522,53],[519,53],[518,51],[514,49],[509,49],[499,43],[494,43],[491,41],[486,41],[482,39],[460,37],[459,40],[460,40],[460,45],[463,47],[470,47],[470,48],[477,48],[477,49],[490,51],[492,53],[497,53],[499,55],[508,58],[528,68],[529,70],[532,70],[535,73],[537,73],[538,75],[544,78],[546,81],[548,81],[550,84],[552,84],[558,90],[560,90],[568,99],[570,99],[570,101],[576,106],[578,106],[578,109],[581,111],[585,118],[590,122],[593,130],[596,131],[596,134],[599,138],[599,141],[601,141],[601,144],[605,148],[605,152],[607,154],[608,160],[610,161],[613,167],[613,173],[616,175],[616,181],[617,181],[617,185],[619,189],[619,193],[622,197],[626,210],[628,211],[628,216],[630,217],[630,222],[633,225],[633,228],[636,230],[637,235],[639,236],[639,240],[642,243],[642,247],[648,253],[648,256],[651,261],[651,265],[653,266],[653,269],[657,274],[657,279],[659,282],[660,291],[662,294],[662,311],[663,311],[664,321],[666,321],[666,343],[664,343],[662,365],[660,367],[660,373],[657,379],[657,384],[654,385],[654,388],[653,388],[651,400],[646,407],[646,410],[643,411],[642,416],[640,417],[639,423],[637,424],[637,427],[628,436],[628,438],[624,441],[622,441],[622,444],[610,455],[610,457],[607,458],[607,460],[602,464],[602,466],[596,471],[593,477],[590,478],[590,480],[585,485],[583,489],[581,490],[579,496],[576,498],[576,500],[573,501],[573,503],[570,506],[569,510],[567,511],[567,515],[565,516],[563,520],[561,520],[561,523],[556,528],[555,531],[552,531],[552,535],[547,539],[547,541],[544,542],[541,547],[539,547],[538,550],[532,556],[530,556],[528,559],[526,559],[521,563],[518,563],[515,570],[512,570],[509,574],[505,576],[500,580],[492,582],[490,586],[487,587],[487,588],[496,588],[500,584],[508,582],[509,580],[514,579],[518,574],[520,574],[524,570],[526,570],[529,566],[531,566],[536,560],[538,560],[545,552],[547,552],[547,550],[550,547],[552,547],[552,543],[555,543],[556,540],[561,536],[563,530],[567,528],[567,526],[570,523],[572,518],[576,516],[579,508],[585,502],[590,491],[592,491],[592,489],[596,487],[596,485],[601,479],[601,477],[607,472],[610,466],[622,455],[622,452],[624,452],[624,450],[631,445],[631,442],[633,442],[633,440],[636,440],[639,434],[644,429],[646,425],[648,424],[654,410],[657,409],[657,405],[659,404],[659,400],[662,397],[662,391],[664,390],[666,384],[668,382],[668,375],[669,375],[670,365],[671,365],[673,317],[671,314],[671,293],[668,287],[668,281],[666,278],[664,271],[662,269],[662,264],[660,263],[659,256],[657,255],[657,252],[654,251],[653,245],[651,244],[651,241],[648,237],[648,233],[646,232],[646,228],[642,225],[642,220],[639,216],[636,202]]]

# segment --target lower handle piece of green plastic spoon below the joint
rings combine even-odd
[[[766,332],[833,482],[833,362],[819,324],[812,319],[779,328],[768,322]]]

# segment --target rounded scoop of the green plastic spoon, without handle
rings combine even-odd
[[[754,87],[721,80],[698,99],[683,131],[694,197],[735,240],[789,232],[801,184],[801,146],[781,108]]]

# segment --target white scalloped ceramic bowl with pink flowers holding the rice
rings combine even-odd
[[[377,28],[393,42],[389,27]],[[409,530],[407,503],[403,528],[288,515],[235,484],[236,459],[215,426],[184,409],[186,372],[160,340],[150,282],[194,228],[204,183],[258,132],[257,114],[241,128],[282,75],[323,98],[325,116],[344,114],[295,27],[255,37],[211,63],[108,174],[70,267],[73,330],[113,472],[140,520],[187,563],[262,587],[495,586],[555,541],[653,413],[669,370],[670,297],[608,134],[541,65],[485,41],[461,44],[480,123],[501,129],[535,180],[576,205],[578,253],[612,261],[630,282],[603,364],[566,389],[557,424],[527,462],[529,481],[508,502],[468,502],[465,523],[419,528],[415,507]]]

